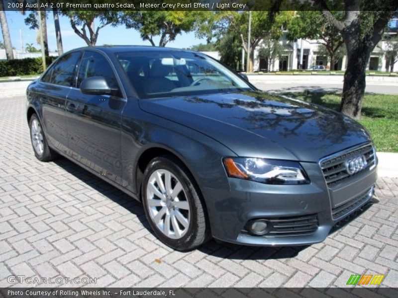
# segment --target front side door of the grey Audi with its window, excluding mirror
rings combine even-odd
[[[77,161],[120,184],[120,126],[126,100],[121,93],[83,94],[79,86],[92,76],[102,76],[109,87],[121,90],[108,59],[100,52],[85,51],[76,88],[72,88],[66,100],[68,146]]]

